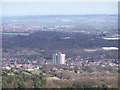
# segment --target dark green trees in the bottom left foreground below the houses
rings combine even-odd
[[[42,73],[39,75],[29,75],[22,72],[19,74],[8,75],[8,73],[12,72],[6,70],[2,74],[2,88],[42,88],[46,83]]]

